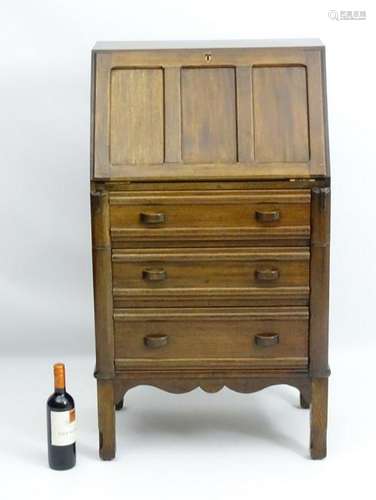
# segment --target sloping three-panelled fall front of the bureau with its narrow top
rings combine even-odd
[[[99,42],[94,180],[329,175],[318,39]]]

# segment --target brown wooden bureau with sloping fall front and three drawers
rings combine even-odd
[[[100,456],[137,385],[289,384],[325,457],[321,42],[98,43],[91,122]]]

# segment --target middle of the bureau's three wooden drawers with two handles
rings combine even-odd
[[[115,307],[306,305],[306,248],[117,249]]]

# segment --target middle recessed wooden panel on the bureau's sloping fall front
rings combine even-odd
[[[187,163],[237,159],[233,68],[181,70],[182,158]]]

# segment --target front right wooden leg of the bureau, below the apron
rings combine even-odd
[[[326,457],[326,427],[328,418],[328,379],[312,380],[311,458]]]

